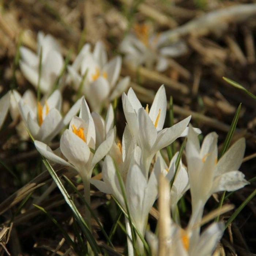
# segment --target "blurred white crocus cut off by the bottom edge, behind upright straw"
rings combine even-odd
[[[224,229],[224,223],[212,223],[197,237],[196,243],[191,244],[190,241],[193,239],[192,231],[190,229],[182,229],[172,222],[170,226],[170,236],[166,238],[168,241],[168,255],[211,256],[218,242],[221,240]],[[157,236],[147,231],[146,238],[151,247],[151,251],[154,252],[153,256],[156,256],[158,251]]]

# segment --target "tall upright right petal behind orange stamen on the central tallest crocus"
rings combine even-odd
[[[163,124],[165,123],[165,116],[166,116],[166,93],[165,87],[162,85],[155,95],[154,101],[150,108],[149,117],[155,123],[157,120],[158,114],[160,113],[158,124],[157,124],[157,131],[161,131],[163,129]],[[160,109],[160,112],[159,112]]]

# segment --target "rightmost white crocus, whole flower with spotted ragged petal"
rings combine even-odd
[[[238,171],[244,157],[245,139],[239,139],[218,160],[217,137],[215,132],[209,133],[200,147],[197,134],[189,127],[186,158],[192,199],[190,226],[201,221],[204,205],[213,193],[235,191],[249,184]]]

